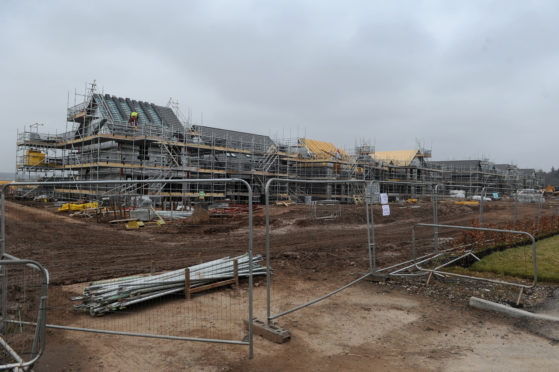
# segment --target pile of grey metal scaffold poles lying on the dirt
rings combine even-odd
[[[253,275],[266,274],[266,268],[258,264],[262,260],[261,255],[252,258]],[[100,316],[173,293],[199,292],[200,289],[218,287],[216,283],[219,282],[231,284],[232,280],[238,281],[239,277],[249,276],[250,264],[248,254],[244,254],[158,275],[93,282],[84,288],[83,296],[72,298],[73,301],[82,301],[81,304],[74,306],[74,310],[89,312],[91,316]],[[189,272],[189,279],[186,278],[187,272]],[[186,282],[190,283],[188,291],[185,291]]]

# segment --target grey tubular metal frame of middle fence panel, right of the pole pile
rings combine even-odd
[[[373,273],[373,247],[374,247],[374,233],[372,233],[372,225],[369,219],[369,208],[372,208],[372,205],[369,204],[369,202],[366,202],[366,212],[367,212],[367,238],[369,241],[368,244],[368,263],[369,263],[369,271],[365,274],[362,275],[361,277],[359,277],[356,280],[351,281],[350,283],[334,290],[331,291],[323,296],[320,296],[318,298],[315,298],[311,301],[305,302],[304,304],[295,306],[291,309],[288,309],[286,311],[280,312],[278,314],[272,314],[271,313],[271,267],[270,267],[270,186],[272,185],[272,183],[274,182],[283,182],[283,183],[302,183],[302,184],[360,184],[360,185],[364,185],[366,186],[367,184],[371,184],[372,181],[365,181],[365,180],[300,180],[300,179],[286,179],[286,178],[271,178],[268,180],[268,182],[266,182],[266,186],[265,186],[265,202],[266,202],[266,319],[267,319],[267,324],[271,325],[272,324],[272,320],[277,319],[279,317],[282,317],[284,315],[290,314],[292,312],[295,312],[297,310],[301,310],[305,307],[308,307],[310,305],[313,305],[317,302],[320,302],[328,297],[333,296],[336,293],[339,293],[341,291],[343,291],[346,288],[349,288],[350,286],[359,283],[360,281],[362,281],[363,279],[367,278],[368,276],[370,276]],[[371,211],[372,214],[372,211]],[[373,237],[371,240],[371,237]]]

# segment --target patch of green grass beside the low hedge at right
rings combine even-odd
[[[559,283],[559,235],[537,242],[538,281]],[[491,253],[462,272],[476,271],[531,279],[534,276],[532,245]]]

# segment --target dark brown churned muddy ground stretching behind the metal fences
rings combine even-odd
[[[238,255],[248,249],[247,218],[219,218],[208,223],[168,223],[127,231],[124,224],[97,223],[57,214],[56,208],[34,208],[7,202],[7,252],[36,259],[51,276],[52,284],[91,280],[183,268],[200,261]],[[512,204],[486,204],[486,223],[512,220]],[[535,205],[522,205],[519,220],[534,220]],[[542,214],[556,214],[555,207]],[[305,206],[276,207],[271,211],[271,258],[273,266],[295,272],[328,275],[334,268],[354,262],[363,267],[367,260],[366,215],[364,207],[344,206],[342,216],[333,220],[311,220]],[[441,202],[439,221],[471,226],[479,217],[479,207]],[[414,223],[432,223],[430,203],[393,205],[382,217],[375,209],[375,234],[379,267],[411,257],[411,228]],[[440,231],[442,240],[460,236],[458,231]],[[432,229],[419,228],[419,252],[432,249]],[[254,252],[265,253],[265,217],[260,209],[254,216]],[[365,266],[366,267],[366,266]]]

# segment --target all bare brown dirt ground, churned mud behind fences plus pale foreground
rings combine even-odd
[[[544,215],[555,215],[547,207]],[[8,202],[7,251],[41,262],[51,276],[49,306],[66,306],[79,283],[137,273],[183,268],[200,261],[237,255],[248,247],[246,217],[209,224],[173,222],[161,228],[127,231],[122,225],[76,219],[52,207]],[[442,202],[441,223],[471,225],[478,207]],[[533,220],[535,206],[523,205],[519,219]],[[271,213],[274,311],[285,310],[347,283],[367,269],[363,207],[344,206],[336,220],[310,220],[303,206],[276,207]],[[512,220],[512,204],[488,203],[484,220]],[[429,203],[393,205],[392,215],[375,209],[378,265],[411,257],[411,227],[432,222]],[[264,253],[263,211],[254,216],[254,250]],[[441,232],[443,241],[459,232]],[[418,229],[420,252],[432,249],[432,230]],[[255,288],[255,315],[265,315],[265,290]],[[437,283],[434,288],[452,283]],[[554,370],[555,341],[499,316],[467,307],[466,296],[446,289],[416,290],[423,283],[387,285],[363,281],[279,324],[292,340],[276,345],[255,337],[255,358],[244,346],[139,339],[49,330],[37,371],[136,370]],[[411,288],[411,289],[410,289]],[[488,289],[493,293],[493,289]],[[492,292],[493,291],[493,292]],[[482,292],[483,295],[485,292]],[[205,304],[211,302],[208,294]],[[202,298],[200,296],[199,298]],[[541,297],[541,296],[540,296]],[[228,298],[228,297],[226,297]],[[163,303],[172,318],[175,301]],[[196,301],[196,299],[194,300]],[[149,311],[143,309],[141,311]],[[48,322],[78,324],[69,312],[51,311]],[[112,315],[109,315],[112,316]],[[109,316],[100,318],[108,319]],[[241,318],[242,316],[240,316]],[[165,323],[173,327],[173,323]]]

